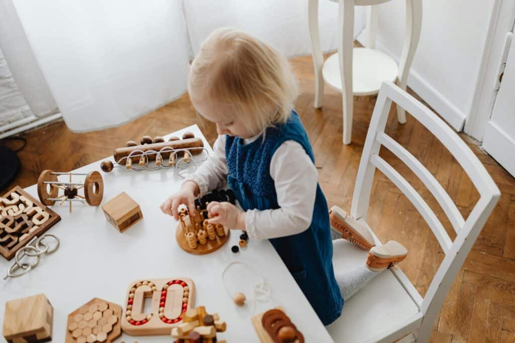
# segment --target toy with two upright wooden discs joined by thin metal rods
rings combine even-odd
[[[59,181],[58,175],[70,175],[70,182]],[[84,182],[72,182],[72,175],[85,175]],[[59,195],[60,189],[63,190],[63,195]],[[78,193],[79,189],[83,189],[84,195]],[[44,170],[38,178],[38,195],[40,201],[47,206],[54,205],[56,201],[59,201],[59,205],[67,201],[70,203],[70,212],[72,212],[72,202],[74,201],[81,203],[85,201],[91,206],[100,205],[104,196],[104,180],[97,171],[58,173]]]

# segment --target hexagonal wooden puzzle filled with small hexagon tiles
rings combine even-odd
[[[122,306],[94,298],[68,315],[66,343],[111,343],[122,334]]]

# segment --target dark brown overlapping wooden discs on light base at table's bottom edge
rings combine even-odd
[[[253,316],[252,324],[262,343],[304,343],[304,336],[280,307]]]

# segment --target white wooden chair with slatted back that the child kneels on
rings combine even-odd
[[[385,134],[392,101],[431,131],[472,180],[480,198],[467,220],[464,220],[435,177],[411,153]],[[454,241],[451,241],[441,222],[419,193],[379,156],[381,146],[402,160],[431,191],[456,231]],[[364,224],[376,168],[417,208],[436,236],[445,258],[424,298],[400,268],[385,270],[345,303],[341,317],[328,326],[328,331],[335,342],[392,342],[402,337],[402,342],[427,342],[443,300],[499,200],[500,191],[465,142],[432,111],[391,82],[382,84],[377,97],[354,188],[351,215],[361,218],[359,220]],[[382,244],[375,235],[374,239],[376,244]],[[333,242],[333,247],[336,273],[338,270],[365,263],[367,251],[356,248],[350,242],[337,240]]]

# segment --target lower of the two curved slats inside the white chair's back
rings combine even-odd
[[[440,243],[440,246],[443,249],[443,252],[447,254],[449,249],[451,248],[452,241],[445,231],[442,223],[436,217],[435,212],[427,205],[427,203],[422,199],[419,193],[406,181],[401,174],[399,174],[392,166],[390,166],[384,159],[377,155],[370,156],[370,162],[383,174],[386,175],[409,199],[409,201],[417,208],[420,212],[427,225],[431,228],[433,233]]]

